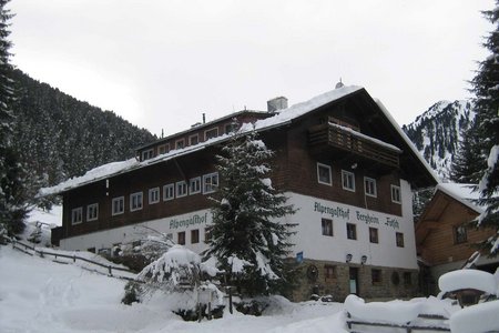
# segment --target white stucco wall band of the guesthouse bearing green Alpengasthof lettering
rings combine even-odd
[[[288,203],[298,209],[286,221],[296,223],[297,233],[292,241],[295,244],[292,255],[303,252],[305,259],[345,262],[346,255],[353,255],[353,263],[360,263],[363,255],[366,264],[417,269],[415,232],[413,223],[413,201],[410,185],[401,181],[403,216],[375,212],[357,206],[326,201],[296,193],[287,193]],[[322,234],[322,219],[333,220],[333,236]],[[348,240],[346,223],[356,224],[357,240]],[[195,252],[205,249],[205,226],[212,223],[210,210],[195,211],[177,216],[149,221],[81,236],[61,240],[65,250],[106,249],[116,243],[126,243],[136,239],[138,225],[145,225],[160,232],[171,233],[176,241],[177,232],[185,231],[186,246]],[[378,229],[378,243],[369,242],[369,226]],[[191,230],[200,230],[200,243],[191,243]],[[404,248],[396,245],[396,232],[404,233]]]

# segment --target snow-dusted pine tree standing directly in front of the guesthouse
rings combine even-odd
[[[215,256],[227,283],[245,295],[276,292],[289,284],[286,258],[293,225],[276,220],[293,214],[286,196],[273,188],[267,161],[273,157],[255,131],[233,134],[218,157],[221,183],[212,209],[205,258]]]

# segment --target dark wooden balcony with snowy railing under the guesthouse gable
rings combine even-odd
[[[400,167],[401,151],[395,145],[330,122],[308,129],[308,145],[313,154],[335,153],[339,159],[361,163],[368,169]]]

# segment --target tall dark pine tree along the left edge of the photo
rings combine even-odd
[[[12,18],[6,9],[9,0],[0,0],[0,229],[9,234],[20,233],[24,229],[28,213],[24,186],[24,170],[18,161],[12,147],[12,104],[14,103],[12,67],[9,64],[8,21]]]

